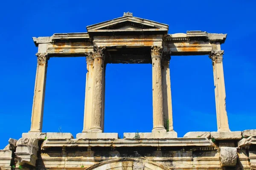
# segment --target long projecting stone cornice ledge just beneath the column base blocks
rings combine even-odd
[[[47,147],[182,147],[213,146],[206,138],[173,138],[173,139],[47,139],[41,148]]]

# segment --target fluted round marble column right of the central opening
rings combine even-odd
[[[151,49],[153,86],[153,129],[152,132],[166,132],[163,122],[163,88],[161,58],[162,47]]]

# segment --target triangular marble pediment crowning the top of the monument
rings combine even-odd
[[[87,26],[87,31],[88,33],[110,31],[166,31],[167,34],[168,28],[169,26],[166,24],[133,17],[130,13],[113,20]]]

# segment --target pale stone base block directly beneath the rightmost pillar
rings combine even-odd
[[[237,140],[242,139],[241,131],[233,132],[210,132],[211,138],[216,140]]]

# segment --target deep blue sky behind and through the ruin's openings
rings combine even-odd
[[[224,77],[230,130],[256,129],[256,2],[180,1],[3,1],[0,10],[0,148],[30,129],[36,56],[32,37],[86,32],[86,26],[133,12],[169,25],[169,34],[201,30],[228,34]],[[215,96],[208,56],[173,56],[170,64],[174,130],[216,131]],[[150,64],[108,64],[105,132],[151,132]],[[85,57],[48,63],[44,132],[83,129]]]

